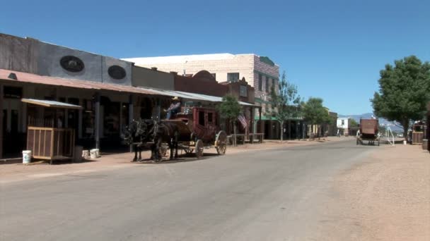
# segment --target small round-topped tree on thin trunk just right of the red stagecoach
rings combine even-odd
[[[226,118],[233,125],[233,134],[236,137],[236,121],[242,108],[239,105],[238,99],[231,94],[223,97],[219,105],[219,113],[222,118]],[[236,146],[236,138],[233,140],[233,145]]]

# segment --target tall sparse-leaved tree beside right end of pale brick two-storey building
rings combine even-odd
[[[272,86],[270,97],[272,109],[267,111],[267,116],[274,117],[281,124],[282,142],[284,140],[284,123],[300,115],[300,96],[297,94],[297,86],[286,80],[285,71],[282,73],[281,81],[279,81],[279,89]]]

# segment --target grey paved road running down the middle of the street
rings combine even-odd
[[[1,186],[0,240],[318,240],[341,171],[375,147],[332,142]]]

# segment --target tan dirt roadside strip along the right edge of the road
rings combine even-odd
[[[430,154],[381,146],[335,180],[333,240],[430,240]]]

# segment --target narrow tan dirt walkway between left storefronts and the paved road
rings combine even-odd
[[[262,149],[279,149],[279,148],[291,148],[297,146],[311,145],[311,144],[322,144],[325,142],[339,142],[351,140],[351,137],[326,137],[315,139],[314,141],[308,140],[265,140],[262,144],[245,144],[238,147],[227,147],[226,155],[236,154],[240,152],[251,152]],[[178,154],[181,154],[178,151]],[[185,154],[185,153],[184,153]],[[210,159],[216,156],[216,149],[209,148],[204,149],[204,159]],[[142,152],[142,159],[149,159],[151,154],[149,152]],[[67,175],[76,173],[91,173],[95,171],[112,170],[114,168],[125,168],[136,165],[132,163],[134,153],[121,153],[121,154],[110,154],[102,156],[94,160],[86,160],[79,163],[70,162],[55,162],[53,165],[47,163],[37,163],[34,165],[23,165],[22,163],[11,163],[0,165],[0,184],[11,183],[21,180],[32,180],[35,178],[46,178],[57,175]],[[190,161],[195,160],[193,156],[180,156],[179,161]],[[178,160],[177,160],[178,161]],[[146,165],[160,165],[160,163],[152,163],[146,161]],[[163,162],[161,162],[162,164]]]

